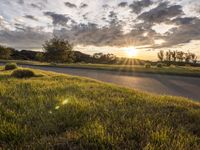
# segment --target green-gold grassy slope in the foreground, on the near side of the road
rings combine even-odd
[[[0,69],[1,70],[1,69]],[[86,78],[0,71],[0,147],[199,149],[200,103]]]

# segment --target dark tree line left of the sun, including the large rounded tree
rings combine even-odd
[[[0,59],[34,60],[53,63],[100,63],[100,64],[145,64],[134,58],[119,58],[114,54],[94,53],[88,55],[74,51],[73,45],[64,39],[54,37],[43,44],[43,52],[15,50],[0,45]]]

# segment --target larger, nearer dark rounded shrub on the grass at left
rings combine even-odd
[[[11,76],[15,78],[30,78],[30,77],[34,77],[35,73],[29,69],[17,69],[13,71]]]

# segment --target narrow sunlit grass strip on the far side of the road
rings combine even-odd
[[[19,60],[0,60],[0,62],[17,62],[18,64],[28,64],[36,66],[56,66],[56,67],[71,67],[71,68],[85,68],[85,69],[99,69],[99,70],[112,70],[112,71],[126,71],[126,72],[143,72],[143,73],[156,73],[156,74],[169,74],[169,75],[182,75],[200,77],[200,67],[162,67],[158,68],[152,66],[145,68],[139,65],[108,65],[108,64],[51,64],[41,63],[37,61],[19,61]]]

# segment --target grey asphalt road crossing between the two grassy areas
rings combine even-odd
[[[161,95],[175,95],[200,101],[200,78],[91,69],[27,66],[34,69],[83,76]]]

